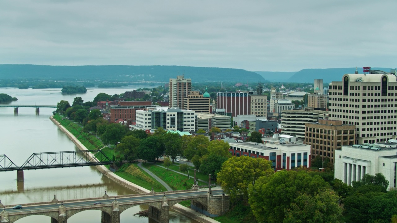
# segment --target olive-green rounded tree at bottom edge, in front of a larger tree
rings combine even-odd
[[[320,189],[313,195],[299,193],[299,196],[285,209],[283,223],[341,222],[340,197],[330,188]]]

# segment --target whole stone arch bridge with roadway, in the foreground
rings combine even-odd
[[[200,191],[196,189],[168,191],[164,193],[152,191],[150,194],[122,196],[108,196],[105,194],[102,198],[65,200],[62,203],[54,198],[52,202],[22,204],[22,209],[15,210],[12,209],[13,205],[3,206],[0,203],[0,208],[4,208],[1,212],[1,222],[13,223],[29,215],[46,215],[51,217],[51,223],[66,223],[69,217],[81,211],[100,210],[102,211],[101,222],[119,223],[119,215],[124,210],[140,204],[148,204],[150,218],[160,223],[168,223],[168,208],[184,200],[192,200],[192,204],[193,201],[196,201],[195,204],[205,209],[204,211],[208,213],[207,215],[211,216],[222,215],[222,213],[229,209],[229,198],[225,198],[223,190],[220,189]],[[94,205],[94,202],[100,202],[102,204]],[[197,207],[195,208],[197,210]]]

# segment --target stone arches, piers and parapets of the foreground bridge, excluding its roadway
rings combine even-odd
[[[192,192],[192,190],[187,190]],[[180,193],[178,191],[176,194]],[[155,192],[151,193],[152,195],[156,195]],[[212,191],[208,190],[206,194],[198,194],[198,195],[189,195],[189,196],[181,196],[181,197],[171,197],[168,198],[167,194],[175,194],[173,192],[164,192],[162,197],[157,197],[154,199],[147,199],[145,201],[123,201],[119,202],[116,197],[109,197],[105,195],[103,198],[112,199],[114,201],[108,204],[98,204],[98,205],[87,205],[87,206],[77,206],[77,207],[66,207],[67,204],[73,202],[81,202],[81,201],[94,201],[101,198],[96,199],[80,199],[80,200],[68,200],[65,205],[63,202],[60,204],[58,208],[45,209],[45,210],[31,210],[31,211],[18,211],[18,212],[8,212],[6,210],[1,212],[1,223],[13,223],[18,219],[23,217],[27,217],[30,215],[46,215],[51,217],[51,223],[66,223],[67,219],[76,213],[86,210],[100,210],[102,211],[102,223],[119,223],[120,222],[120,213],[131,208],[133,206],[137,206],[140,204],[147,204],[149,206],[149,217],[154,219],[160,223],[168,223],[168,209],[173,205],[185,201],[191,200],[191,207],[195,210],[199,210],[202,213],[206,213],[208,216],[218,216],[222,215],[225,211],[229,210],[229,197],[222,195],[212,195]],[[147,196],[148,194],[145,194]],[[131,198],[131,197],[139,197],[143,196],[143,194],[133,194],[133,195],[124,195],[118,196],[117,198]],[[102,199],[103,199],[102,198]],[[34,205],[50,205],[54,203],[59,203],[58,200],[54,199],[52,202],[40,202]],[[33,204],[23,204],[23,206],[32,206]],[[0,206],[2,206],[0,204]],[[10,206],[8,206],[10,207]],[[0,207],[1,208],[1,207]],[[4,207],[5,208],[5,207]]]

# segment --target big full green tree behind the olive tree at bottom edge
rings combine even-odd
[[[299,194],[313,196],[329,184],[305,170],[278,171],[272,177],[260,177],[249,190],[249,204],[258,222],[279,223]]]

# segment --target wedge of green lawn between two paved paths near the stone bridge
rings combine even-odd
[[[187,179],[187,176],[169,171],[151,163],[144,163],[143,165],[156,176],[160,177],[160,179],[166,182],[173,190],[187,190],[191,189],[193,186],[193,179]],[[198,182],[198,185],[204,185],[204,183]]]

